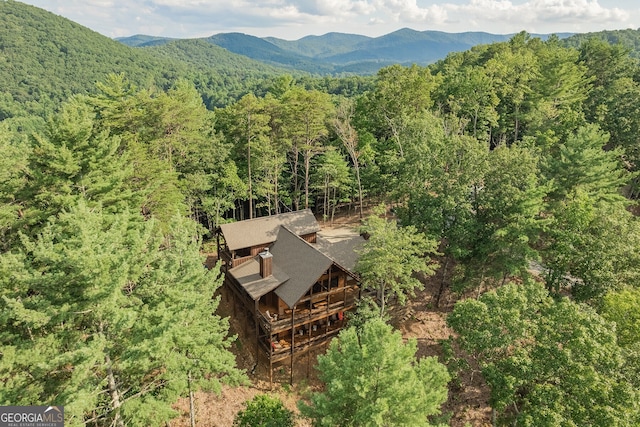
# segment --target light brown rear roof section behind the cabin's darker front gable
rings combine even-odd
[[[310,209],[222,224],[220,230],[229,250],[235,251],[275,242],[280,226],[298,236],[320,231]]]

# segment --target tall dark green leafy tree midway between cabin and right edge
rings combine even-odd
[[[476,285],[480,292],[486,280],[504,283],[527,275],[547,222],[542,213],[548,187],[538,162],[537,150],[522,144],[491,151],[482,185],[472,192],[472,232],[460,258],[460,284]]]

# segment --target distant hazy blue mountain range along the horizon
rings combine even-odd
[[[572,34],[556,35],[562,39]],[[549,37],[548,34],[532,36],[543,40]],[[451,52],[465,51],[479,44],[503,42],[511,37],[513,34],[445,33],[404,28],[380,37],[327,33],[289,41],[243,33],[220,33],[202,40],[260,62],[314,74],[374,74],[391,64],[428,65]],[[135,35],[116,40],[131,47],[156,47],[176,39]]]

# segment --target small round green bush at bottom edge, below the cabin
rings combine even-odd
[[[246,408],[236,415],[234,427],[293,427],[293,412],[285,408],[280,399],[257,394],[245,402]]]

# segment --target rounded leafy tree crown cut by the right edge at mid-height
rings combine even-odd
[[[576,191],[554,208],[543,239],[547,287],[557,293],[568,288],[577,300],[598,305],[608,290],[640,278],[640,223],[620,204]]]

